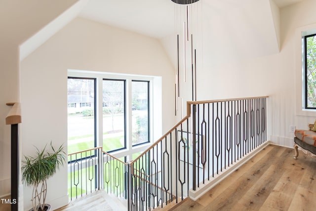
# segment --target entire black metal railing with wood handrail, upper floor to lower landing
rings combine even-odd
[[[170,210],[188,196],[198,199],[266,142],[266,98],[188,102],[187,116],[129,163],[102,147],[91,149],[85,159],[69,155],[76,157],[69,164],[73,175],[84,166],[96,175],[87,177],[85,186],[91,188],[86,192],[79,177],[71,190],[75,188],[77,198],[80,190],[84,195],[103,189],[108,194],[101,198],[116,203],[111,209],[128,211]],[[116,197],[123,199],[124,208]]]

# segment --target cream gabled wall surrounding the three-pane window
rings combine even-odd
[[[162,130],[175,124],[174,69],[152,38],[77,18],[21,62],[22,154],[34,146],[67,145],[67,70],[89,70],[162,77]],[[155,129],[155,128],[154,128]],[[56,185],[58,184],[58,185]],[[30,196],[25,188],[24,195]],[[47,202],[64,205],[67,168],[48,183]],[[25,208],[31,206],[24,200]]]

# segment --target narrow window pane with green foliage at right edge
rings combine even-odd
[[[307,108],[316,107],[316,35],[306,37]]]

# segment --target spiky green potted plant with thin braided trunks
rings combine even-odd
[[[50,205],[45,204],[47,192],[47,179],[56,173],[60,166],[64,165],[65,155],[63,145],[55,150],[50,143],[51,152],[37,147],[36,156],[24,156],[22,161],[22,181],[27,186],[33,186],[32,206],[30,211],[49,211]]]

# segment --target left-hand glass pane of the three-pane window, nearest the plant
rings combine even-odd
[[[95,80],[68,78],[68,154],[95,147]]]

